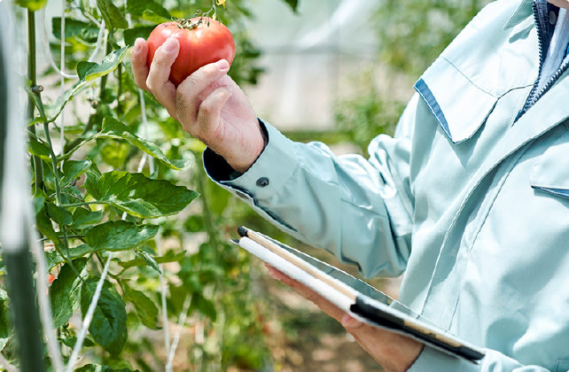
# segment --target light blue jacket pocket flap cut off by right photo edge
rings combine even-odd
[[[560,136],[535,163],[530,185],[535,190],[569,198],[569,132]]]

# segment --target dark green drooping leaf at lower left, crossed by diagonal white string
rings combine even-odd
[[[99,278],[90,276],[82,285],[81,314],[85,318]],[[90,323],[89,332],[98,345],[111,355],[119,355],[127,342],[127,310],[113,284],[105,281]]]

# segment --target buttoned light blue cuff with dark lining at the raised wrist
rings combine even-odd
[[[298,167],[293,142],[269,123],[261,121],[267,130],[268,143],[259,158],[246,173],[235,172],[214,151],[204,151],[204,167],[209,177],[223,186],[245,192],[250,198],[270,198],[291,178]]]

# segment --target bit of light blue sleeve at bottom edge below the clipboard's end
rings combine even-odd
[[[540,366],[524,366],[518,360],[513,360],[495,350],[485,351],[486,356],[479,362],[473,363],[425,346],[407,372],[550,372],[549,369]]]

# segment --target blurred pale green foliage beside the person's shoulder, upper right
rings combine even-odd
[[[412,85],[448,43],[490,0],[379,0],[371,15],[378,36],[378,64],[353,80],[355,93],[339,100],[340,132],[367,155],[378,134],[394,134],[407,101],[397,93]],[[380,76],[378,78],[378,75]]]

